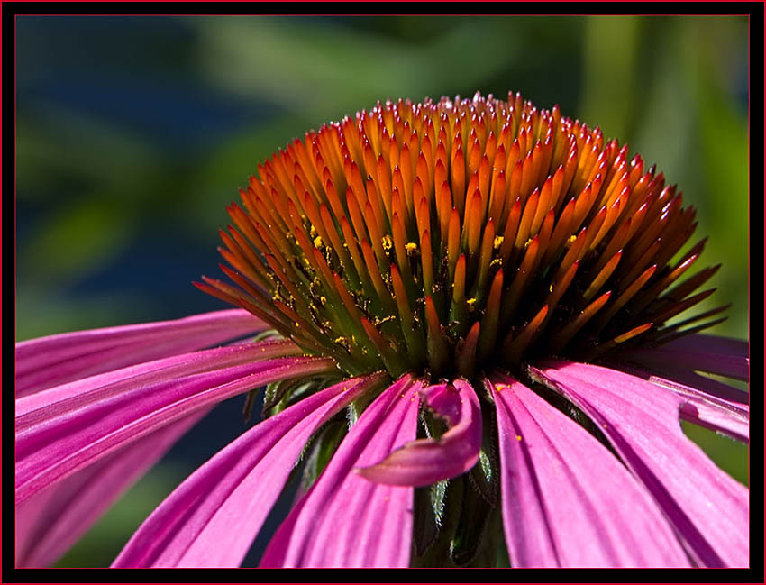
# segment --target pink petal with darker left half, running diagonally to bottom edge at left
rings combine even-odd
[[[311,435],[381,379],[345,380],[242,434],[152,512],[113,566],[239,566]]]

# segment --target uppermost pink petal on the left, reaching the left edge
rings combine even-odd
[[[231,309],[16,343],[16,398],[74,379],[210,347],[265,327],[247,311]]]

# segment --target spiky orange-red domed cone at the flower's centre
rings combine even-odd
[[[221,233],[236,286],[197,287],[350,374],[471,378],[661,343],[717,323],[668,324],[717,267],[682,278],[695,211],[644,167],[519,94],[378,102],[258,166]]]

